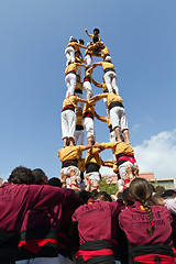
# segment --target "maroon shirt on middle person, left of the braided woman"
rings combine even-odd
[[[73,216],[78,223],[79,244],[94,240],[112,240],[112,222],[119,212],[117,202],[88,200]]]

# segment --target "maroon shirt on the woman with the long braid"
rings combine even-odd
[[[125,232],[132,245],[169,244],[172,242],[172,217],[167,208],[151,206],[153,212],[154,232],[150,237],[146,229],[151,228],[148,217],[142,204],[125,208],[119,216],[121,229]]]

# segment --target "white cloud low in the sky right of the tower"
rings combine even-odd
[[[153,135],[134,151],[141,173],[153,172],[155,178],[176,177],[176,130]]]

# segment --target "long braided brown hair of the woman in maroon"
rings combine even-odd
[[[129,193],[134,200],[140,201],[143,205],[147,213],[148,220],[151,222],[151,228],[146,229],[146,231],[150,235],[152,235],[154,231],[154,224],[153,224],[153,213],[152,213],[151,205],[148,202],[148,199],[152,196],[152,186],[144,178],[135,178],[130,184]]]

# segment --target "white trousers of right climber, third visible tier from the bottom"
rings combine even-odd
[[[105,74],[103,77],[108,91],[119,95],[119,88],[117,86],[117,74],[112,70],[109,70]]]

